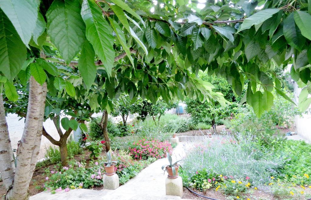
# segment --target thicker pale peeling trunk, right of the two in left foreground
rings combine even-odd
[[[46,83],[41,86],[34,77],[30,77],[25,128],[16,151],[16,172],[13,187],[7,191],[6,199],[29,199],[29,183],[35,170],[40,149],[45,97]]]

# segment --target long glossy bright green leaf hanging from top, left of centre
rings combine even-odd
[[[108,76],[114,63],[114,37],[112,29],[104,19],[102,11],[92,0],[83,0],[81,16],[86,24],[86,38],[93,45],[95,53],[104,63]]]

